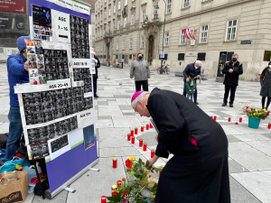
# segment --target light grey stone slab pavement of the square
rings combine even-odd
[[[9,88],[5,64],[0,64],[0,133],[8,132],[7,114],[9,111]],[[137,144],[126,141],[130,129],[149,123],[149,119],[135,115],[130,106],[130,98],[135,92],[135,81],[129,78],[129,69],[101,67],[98,69],[98,99],[96,105],[96,123],[99,140],[99,162],[95,168],[99,172],[88,171],[70,188],[75,193],[62,191],[58,196],[42,201],[41,197],[29,194],[25,202],[100,202],[100,197],[110,195],[110,187],[126,176],[124,162],[130,155],[146,160],[150,150],[155,149],[154,130],[138,134],[148,144],[148,151],[138,149]],[[183,81],[180,77],[151,73],[149,90],[163,88],[182,93]],[[239,81],[233,108],[222,107],[223,85],[215,78],[198,83],[198,102],[208,115],[217,115],[217,121],[223,127],[229,140],[229,173],[232,203],[268,203],[271,202],[271,130],[267,129],[268,120],[262,121],[259,129],[248,128],[248,118],[235,125],[236,113],[245,102],[261,107],[260,85],[256,82]],[[232,122],[228,122],[231,117]],[[269,121],[270,122],[270,121]],[[138,142],[138,141],[136,141]],[[112,169],[112,158],[117,157],[117,169]],[[164,165],[161,159],[156,165]],[[65,172],[65,171],[63,171]]]

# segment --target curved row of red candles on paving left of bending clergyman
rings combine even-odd
[[[154,126],[152,124],[147,124],[145,125],[145,129],[149,130],[150,128],[154,128]],[[141,126],[141,132],[144,132],[144,126]],[[131,143],[135,144],[135,134],[138,134],[138,129],[135,128],[135,130],[131,130],[130,134],[127,134],[127,141],[131,141]],[[143,147],[143,151],[147,150],[147,143],[143,143],[143,139],[139,140],[139,146]],[[154,157],[155,151],[152,150],[151,151],[151,158]],[[113,168],[116,169],[117,168],[117,158],[113,158]]]

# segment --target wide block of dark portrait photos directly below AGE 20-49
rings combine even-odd
[[[50,122],[93,107],[92,97],[84,97],[84,87],[23,93],[26,125]]]

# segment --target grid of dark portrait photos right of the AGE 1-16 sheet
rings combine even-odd
[[[70,15],[70,36],[72,58],[90,59],[89,20]]]

